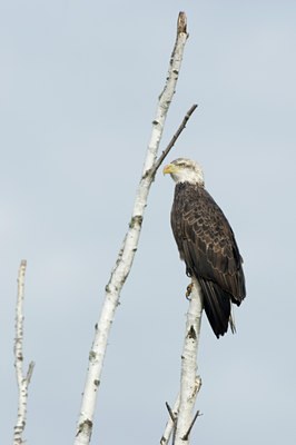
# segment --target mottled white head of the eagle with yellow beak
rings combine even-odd
[[[205,186],[200,165],[191,159],[178,158],[164,168],[164,175],[170,174],[175,182],[190,182]]]

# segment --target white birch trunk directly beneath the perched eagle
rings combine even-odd
[[[203,314],[203,294],[193,278],[190,304],[187,313],[186,334],[181,355],[180,405],[177,418],[175,445],[189,444],[189,433],[196,397],[201,384],[197,373],[197,349]]]

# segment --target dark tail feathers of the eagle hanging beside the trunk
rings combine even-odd
[[[205,312],[216,337],[219,338],[220,335],[227,332],[228,323],[230,324],[231,330],[235,332],[235,325],[230,314],[230,294],[223,290],[210,280],[198,278],[198,283],[204,294]]]

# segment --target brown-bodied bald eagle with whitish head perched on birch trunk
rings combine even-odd
[[[185,260],[186,273],[201,288],[204,308],[219,338],[235,332],[231,303],[246,296],[243,259],[224,212],[205,189],[201,167],[191,159],[176,159],[164,168],[176,182],[171,228]]]

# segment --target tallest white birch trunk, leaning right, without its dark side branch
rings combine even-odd
[[[80,414],[77,423],[75,445],[86,445],[89,444],[90,441],[97,390],[100,384],[109,330],[114,322],[116,307],[119,303],[121,288],[130,271],[132,260],[137,250],[148,192],[155,177],[155,171],[152,172],[152,167],[156,160],[160,138],[162,135],[167,111],[171,102],[178,80],[179,69],[187,38],[188,34],[186,32],[186,16],[184,12],[180,12],[178,18],[176,43],[169,63],[167,81],[164,91],[159,97],[156,118],[152,122],[151,138],[146,154],[140,184],[136,194],[129,230],[126,234],[116,265],[111,271],[110,280],[106,286],[105,301],[102,305],[99,322],[96,325],[96,334],[91,352],[89,354],[89,366],[86,377],[86,385],[82,395]]]

